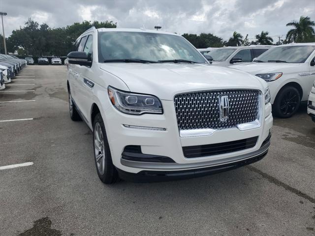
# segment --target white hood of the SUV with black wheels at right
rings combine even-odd
[[[229,68],[246,71],[252,75],[278,72],[296,73],[301,71],[303,64],[304,63],[250,62],[240,65],[231,65]]]

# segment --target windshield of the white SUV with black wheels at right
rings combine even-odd
[[[284,46],[269,49],[257,59],[262,62],[304,63],[315,50],[315,46]]]

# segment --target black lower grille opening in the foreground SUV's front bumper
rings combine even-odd
[[[220,155],[253,148],[257,140],[258,136],[219,144],[188,146],[183,147],[183,152],[186,158]]]

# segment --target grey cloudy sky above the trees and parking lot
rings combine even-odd
[[[301,15],[315,20],[315,0],[0,0],[5,36],[31,17],[50,27],[74,22],[117,22],[119,28],[177,33],[211,32],[228,39],[233,31],[253,38],[261,30],[284,35],[286,23]],[[277,40],[277,37],[274,37]]]

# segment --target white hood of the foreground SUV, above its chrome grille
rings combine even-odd
[[[213,89],[260,89],[263,83],[248,73],[202,64],[101,63],[100,68],[119,77],[132,92],[173,100],[178,93]],[[117,88],[120,89],[120,88]]]

